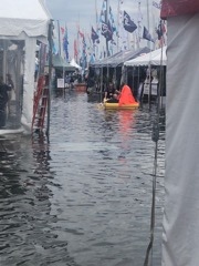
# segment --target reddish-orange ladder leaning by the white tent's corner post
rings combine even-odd
[[[49,86],[46,76],[41,75],[38,80],[33,102],[32,132],[41,132],[44,129],[45,113],[49,100]]]

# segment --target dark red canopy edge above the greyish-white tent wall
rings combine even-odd
[[[198,0],[163,0],[160,17],[166,19],[167,17],[193,14],[199,12]]]

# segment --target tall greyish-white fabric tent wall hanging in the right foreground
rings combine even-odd
[[[161,266],[199,265],[199,13],[169,17]]]

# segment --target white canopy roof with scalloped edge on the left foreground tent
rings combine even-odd
[[[50,13],[42,0],[6,0],[0,8],[0,35],[48,35]]]

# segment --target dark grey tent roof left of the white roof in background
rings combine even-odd
[[[142,53],[148,53],[150,51],[149,48],[140,48],[136,51],[134,50],[125,50],[122,52],[116,53],[115,55],[112,55],[111,58],[107,58],[106,60],[103,61],[98,66],[111,66],[111,68],[116,68],[116,66],[122,66],[123,63],[127,60],[134,59]],[[92,64],[92,66],[97,66],[97,62]]]

